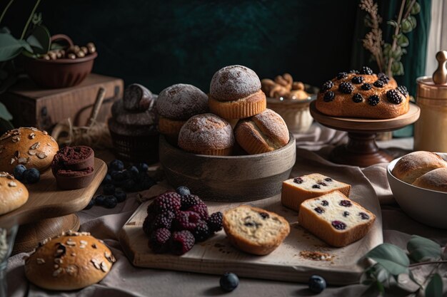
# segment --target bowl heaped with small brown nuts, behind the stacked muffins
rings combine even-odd
[[[277,75],[274,80],[264,78],[261,85],[267,96],[267,108],[281,115],[291,132],[303,133],[311,127],[309,105],[316,99],[318,88],[293,81],[289,73]]]

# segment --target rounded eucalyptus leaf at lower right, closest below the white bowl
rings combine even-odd
[[[410,258],[416,262],[436,261],[441,258],[441,246],[421,236],[411,236],[406,248]]]

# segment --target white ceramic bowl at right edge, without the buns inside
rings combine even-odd
[[[441,155],[444,160],[447,158],[446,153],[438,153],[438,155]],[[447,193],[416,187],[394,177],[391,171],[400,159],[388,164],[386,174],[393,196],[403,212],[428,226],[447,229]]]

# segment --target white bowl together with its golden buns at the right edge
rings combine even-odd
[[[411,152],[389,163],[388,182],[404,212],[447,229],[447,153]]]

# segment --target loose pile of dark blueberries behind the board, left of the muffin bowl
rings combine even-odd
[[[113,160],[109,163],[109,170],[102,181],[103,194],[97,195],[87,205],[90,209],[94,205],[114,208],[119,202],[126,200],[126,192],[138,192],[149,189],[155,180],[147,174],[149,166],[146,163],[131,165],[124,168],[124,162]]]

